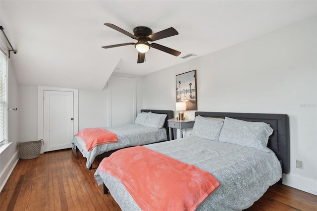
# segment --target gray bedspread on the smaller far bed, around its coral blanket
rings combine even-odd
[[[156,129],[139,124],[129,124],[117,127],[105,127],[105,129],[115,133],[118,142],[99,145],[93,150],[87,151],[85,142],[80,137],[74,136],[72,140],[73,146],[76,146],[83,154],[83,157],[87,158],[87,168],[91,166],[98,155],[105,152],[167,140],[165,128]]]

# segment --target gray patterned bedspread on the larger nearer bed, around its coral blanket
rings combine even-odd
[[[230,143],[187,137],[145,146],[210,172],[220,183],[198,211],[241,211],[249,208],[282,177],[275,154]],[[140,169],[142,173],[142,169]],[[98,185],[106,184],[123,211],[140,208],[116,178],[95,172]],[[145,184],[146,187],[146,184]]]

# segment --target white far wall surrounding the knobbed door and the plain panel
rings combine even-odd
[[[142,77],[113,74],[116,76],[135,77],[137,79],[137,112],[142,108]],[[19,85],[19,132],[20,142],[37,140],[37,96],[38,87]],[[78,90],[79,130],[85,127],[107,126],[107,90]]]

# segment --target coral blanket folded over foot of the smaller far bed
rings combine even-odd
[[[117,135],[101,127],[85,128],[75,136],[79,136],[86,144],[87,151],[91,151],[97,145],[117,142]]]

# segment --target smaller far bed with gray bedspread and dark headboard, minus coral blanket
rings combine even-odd
[[[168,122],[170,118],[174,118],[172,110],[151,110],[142,109],[141,113],[138,114],[135,121],[140,120],[140,116],[146,113],[154,114],[166,114],[163,127],[161,129],[148,127],[147,124],[128,124],[124,126],[106,127],[105,129],[111,131],[117,135],[118,141],[115,143],[107,143],[98,145],[92,150],[86,149],[85,142],[79,136],[74,136],[72,140],[73,149],[80,151],[83,157],[87,158],[86,167],[92,169],[92,164],[95,158],[105,158],[111,155],[113,152],[137,145],[146,145],[156,142],[162,142],[169,140]],[[143,115],[144,116],[144,115]],[[143,122],[144,120],[141,119]],[[138,122],[139,123],[139,122]],[[173,135],[173,134],[172,134]]]

